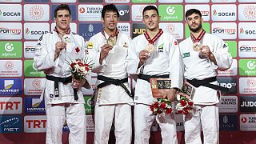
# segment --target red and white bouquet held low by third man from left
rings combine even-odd
[[[166,116],[172,112],[171,102],[166,98],[157,98],[151,105],[150,110],[154,115]]]

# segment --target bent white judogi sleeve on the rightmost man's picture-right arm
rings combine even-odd
[[[227,70],[232,65],[233,61],[230,53],[228,52],[228,49],[229,47],[226,46],[225,42],[218,38],[217,45],[214,46],[214,51],[212,52],[218,64],[218,70]]]

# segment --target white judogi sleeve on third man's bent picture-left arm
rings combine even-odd
[[[138,68],[139,52],[136,51],[136,46],[138,46],[137,40],[138,38],[134,38],[128,48],[128,56],[126,58],[126,69],[128,74],[139,74],[140,72],[140,67]]]

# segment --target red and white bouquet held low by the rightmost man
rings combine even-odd
[[[175,106],[178,114],[189,114],[193,110],[194,102],[182,92],[177,94],[178,103]]]

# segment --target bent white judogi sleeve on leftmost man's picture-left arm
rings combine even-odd
[[[39,38],[38,44],[34,51],[34,66],[38,70],[47,71],[55,66],[58,66],[58,60],[61,56],[60,54],[59,57],[54,61],[55,47],[47,47],[46,43],[48,36],[48,34],[44,34],[41,38]]]

